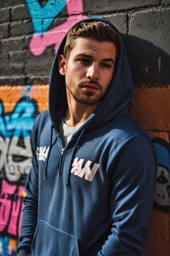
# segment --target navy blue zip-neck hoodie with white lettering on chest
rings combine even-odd
[[[111,24],[104,18],[87,20]],[[19,255],[140,255],[152,211],[156,159],[148,135],[124,111],[133,84],[122,39],[108,91],[63,148],[60,123],[67,99],[58,56],[65,39],[50,74],[49,110],[32,129]]]

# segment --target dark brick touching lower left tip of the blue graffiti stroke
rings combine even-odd
[[[11,24],[11,36],[29,35],[33,33],[32,22],[13,22]]]

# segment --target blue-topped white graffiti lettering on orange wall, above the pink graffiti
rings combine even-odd
[[[0,104],[0,172],[8,181],[19,181],[27,175],[31,166],[30,132],[35,115],[35,105],[24,98],[13,113],[4,114]]]

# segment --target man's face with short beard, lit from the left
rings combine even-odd
[[[111,42],[78,38],[69,59],[59,58],[60,74],[65,76],[67,100],[95,105],[106,93],[113,77],[116,49]]]

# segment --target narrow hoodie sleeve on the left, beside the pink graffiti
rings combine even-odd
[[[19,237],[19,245],[17,249],[20,256],[31,255],[31,243],[37,225],[38,167],[36,157],[36,143],[34,139],[34,127],[31,133],[32,168],[25,182],[24,190],[27,195],[23,199],[24,208]]]

